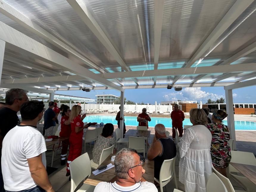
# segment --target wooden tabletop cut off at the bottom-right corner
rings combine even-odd
[[[230,163],[235,167],[241,174],[256,185],[256,166],[246,165],[241,163]]]

